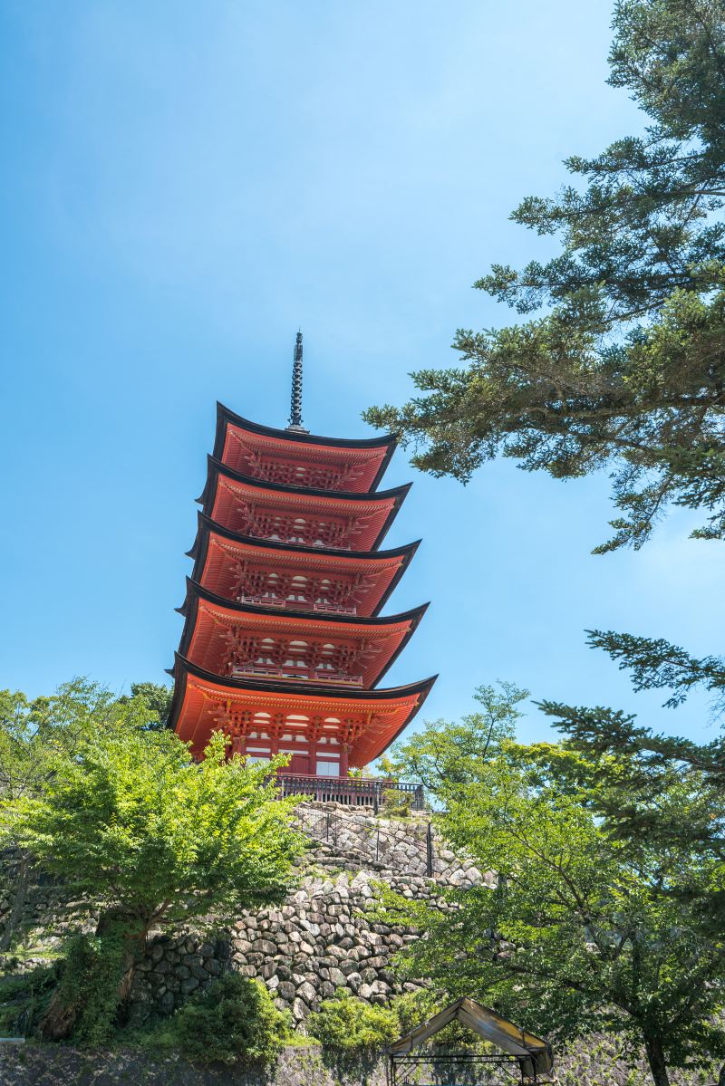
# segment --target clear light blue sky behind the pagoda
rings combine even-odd
[[[215,401],[286,425],[298,326],[305,424],[354,437],[454,363],[457,327],[512,319],[471,289],[547,252],[509,212],[642,124],[604,83],[609,21],[600,0],[0,5],[0,685],[163,679]],[[388,610],[433,603],[388,679],[440,672],[425,717],[499,678],[713,734],[707,699],[660,710],[584,644],[717,651],[720,550],[686,515],[592,557],[605,478],[507,462],[463,488],[399,452],[386,483],[410,478],[387,542],[424,544]]]

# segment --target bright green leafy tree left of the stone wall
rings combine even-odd
[[[100,904],[96,937],[109,952],[123,945],[115,1007],[151,927],[221,922],[280,900],[303,844],[270,766],[227,761],[220,733],[197,763],[177,736],[148,731],[147,721],[142,698],[116,702],[107,727],[60,761],[40,793],[0,810],[36,861]],[[77,1010],[59,996],[45,1034],[66,1036]]]

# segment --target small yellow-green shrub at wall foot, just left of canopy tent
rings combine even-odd
[[[373,1056],[398,1037],[398,1015],[340,989],[310,1015],[308,1030],[323,1048],[347,1056]]]

